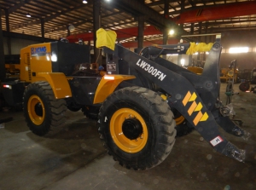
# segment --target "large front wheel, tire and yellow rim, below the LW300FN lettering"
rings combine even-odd
[[[175,142],[175,121],[160,95],[141,87],[119,89],[103,102],[99,133],[113,159],[146,170],[166,159]]]

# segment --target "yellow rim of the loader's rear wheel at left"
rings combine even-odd
[[[44,122],[44,103],[38,95],[32,95],[27,102],[29,118],[33,124],[40,125]]]

